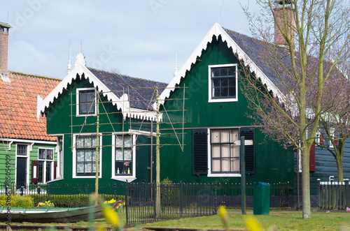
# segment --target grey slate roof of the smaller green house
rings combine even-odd
[[[143,110],[153,110],[153,102],[155,101],[155,87],[158,87],[159,94],[167,87],[164,82],[155,82],[144,80],[127,75],[117,73],[109,73],[104,70],[88,68],[113,94],[118,98],[124,94],[129,96],[130,107]],[[153,102],[152,102],[153,101]]]

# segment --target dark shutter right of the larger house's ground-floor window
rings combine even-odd
[[[244,136],[244,140],[253,140],[253,145],[246,145],[246,173],[255,173],[255,140],[254,140],[254,128],[239,128],[239,138]]]

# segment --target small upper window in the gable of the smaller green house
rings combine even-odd
[[[96,115],[96,91],[94,88],[76,89],[76,115],[95,116]]]

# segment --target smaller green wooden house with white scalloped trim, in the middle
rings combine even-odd
[[[151,181],[155,86],[166,84],[87,68],[78,54],[75,68],[38,105],[62,147],[57,183],[93,184],[97,161],[101,184]]]

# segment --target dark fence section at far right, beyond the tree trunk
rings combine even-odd
[[[318,179],[317,198],[319,209],[346,209],[350,207],[349,179],[344,182],[321,182]]]

